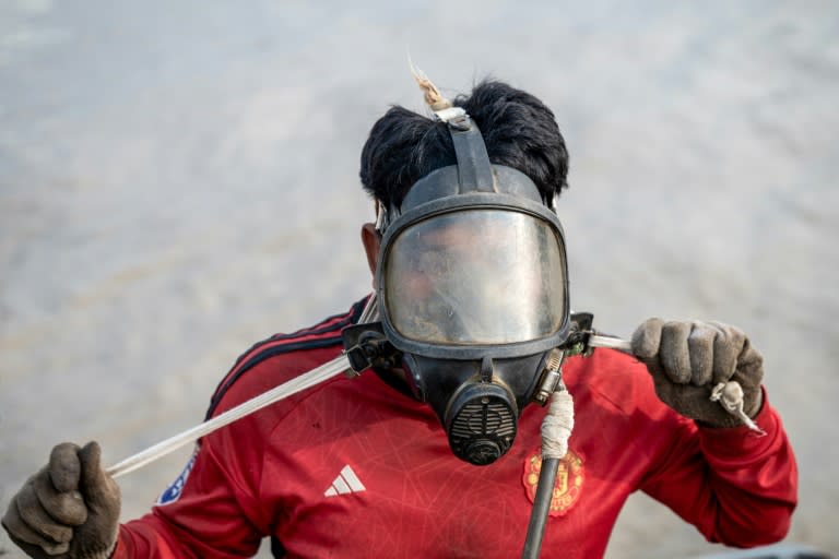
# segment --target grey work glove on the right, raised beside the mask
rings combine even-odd
[[[743,411],[760,411],[763,357],[738,329],[719,322],[664,322],[649,319],[633,334],[633,353],[647,365],[662,402],[680,414],[712,427],[737,427],[743,420],[711,402],[711,390],[737,381]]]

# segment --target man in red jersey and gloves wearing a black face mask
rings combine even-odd
[[[545,415],[528,404],[572,331],[550,210],[568,157],[551,110],[504,83],[482,83],[453,107],[430,100],[433,119],[390,109],[362,153],[378,209],[362,240],[381,324],[361,329],[395,357],[206,436],[152,512],[122,525],[98,447],[60,444],[3,516],[15,543],[38,558],[244,557],[263,537],[277,557],[519,554]],[[255,345],[208,416],[339,355],[364,305]],[[564,384],[550,385],[574,395],[576,427],[545,555],[601,556],[636,490],[711,542],[782,538],[795,463],[748,338],[724,324],[651,319],[633,353],[568,358]],[[761,433],[710,400],[732,381]]]

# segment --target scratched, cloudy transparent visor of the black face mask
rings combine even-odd
[[[562,236],[529,213],[434,215],[398,234],[385,266],[391,323],[412,341],[513,344],[555,334],[564,323]]]

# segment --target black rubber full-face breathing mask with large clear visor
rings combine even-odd
[[[414,395],[454,454],[483,465],[509,450],[568,334],[568,274],[562,226],[536,186],[492,165],[475,123],[449,110],[458,165],[417,181],[380,221],[377,297]]]

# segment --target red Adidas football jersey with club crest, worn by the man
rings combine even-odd
[[[338,356],[361,305],[241,356],[213,397],[216,415]],[[641,490],[711,542],[783,537],[796,468],[765,399],[744,428],[699,428],[653,392],[646,367],[598,349],[564,366],[575,429],[562,461],[545,557],[603,555],[627,497]],[[335,377],[205,437],[144,518],[120,527],[114,557],[509,558],[521,554],[541,465],[530,405],[510,451],[488,466],[457,459],[429,406],[375,372]]]

